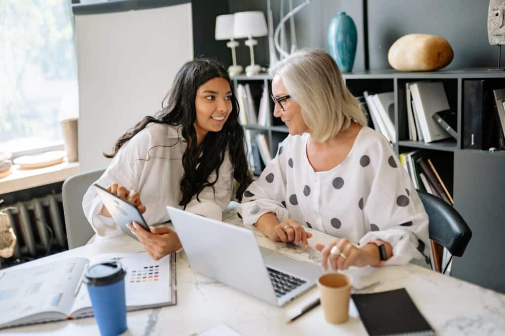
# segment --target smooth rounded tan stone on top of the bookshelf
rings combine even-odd
[[[454,53],[446,39],[430,34],[409,34],[391,45],[387,60],[399,71],[433,71],[447,66]]]

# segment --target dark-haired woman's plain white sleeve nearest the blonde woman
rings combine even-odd
[[[216,179],[216,172],[209,176],[209,181]],[[185,211],[213,218],[221,221],[223,211],[231,200],[233,191],[233,164],[229,152],[225,152],[223,163],[219,167],[219,178],[214,186],[207,186],[200,191],[198,197],[194,195],[186,206]]]

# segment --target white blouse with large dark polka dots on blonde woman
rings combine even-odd
[[[363,127],[344,161],[315,172],[306,154],[309,136],[288,136],[244,192],[244,225],[272,212],[280,222],[290,218],[362,246],[386,241],[393,247],[386,264],[428,262],[428,215],[387,140]]]

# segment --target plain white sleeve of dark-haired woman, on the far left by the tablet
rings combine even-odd
[[[149,132],[145,128],[137,133],[121,147],[107,170],[94,183],[104,188],[112,183],[118,183],[127,189],[138,190],[138,181],[144,167],[144,161],[139,159],[145,158],[150,138]],[[96,193],[93,187],[94,183],[84,194],[82,209],[95,233],[104,237],[117,232],[119,228],[113,218],[100,215],[104,203]]]

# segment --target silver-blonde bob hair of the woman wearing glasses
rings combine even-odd
[[[272,76],[282,78],[287,93],[301,106],[301,115],[316,142],[347,129],[354,120],[366,126],[358,100],[347,90],[337,63],[319,49],[301,49],[277,63]]]

